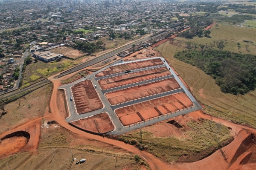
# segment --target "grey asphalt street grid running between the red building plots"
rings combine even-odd
[[[156,57],[156,58],[160,58],[160,57]],[[157,123],[159,121],[167,120],[169,118],[172,118],[172,117],[175,117],[175,116],[178,116],[178,115],[183,115],[183,114],[187,114],[187,113],[192,112],[192,111],[202,109],[201,105],[195,100],[195,98],[191,95],[191,93],[188,91],[188,89],[186,89],[186,87],[184,86],[182,81],[180,81],[180,79],[175,74],[175,72],[165,62],[165,59],[164,58],[160,58],[160,59],[164,62],[165,66],[170,70],[170,72],[172,73],[171,77],[174,77],[176,79],[177,83],[180,85],[180,89],[175,89],[175,90],[172,90],[172,91],[169,91],[169,92],[165,92],[165,93],[161,93],[161,94],[157,94],[157,95],[151,95],[151,96],[140,98],[140,99],[137,99],[137,100],[134,100],[134,101],[129,101],[129,102],[125,102],[125,103],[122,103],[122,104],[117,104],[117,105],[111,106],[108,102],[108,99],[104,95],[106,90],[100,89],[99,84],[97,83],[96,78],[94,77],[94,75],[99,73],[99,72],[102,72],[102,70],[104,70],[104,69],[106,69],[110,66],[115,65],[116,63],[122,63],[123,62],[122,60],[116,61],[115,63],[112,63],[110,66],[106,66],[106,67],[98,70],[97,72],[94,72],[93,74],[86,76],[86,78],[81,78],[78,81],[75,81],[71,84],[66,84],[66,85],[63,85],[63,86],[59,87],[59,89],[65,89],[66,95],[67,95],[67,103],[68,103],[68,107],[69,107],[69,111],[70,111],[70,117],[67,118],[66,121],[67,122],[76,121],[76,120],[79,120],[79,119],[82,119],[82,118],[87,118],[87,117],[90,117],[92,115],[96,115],[96,114],[99,114],[99,113],[102,113],[102,112],[107,112],[109,114],[114,126],[115,126],[115,130],[113,130],[112,132],[110,132],[108,134],[119,135],[119,134],[122,134],[122,133],[129,132],[131,130],[138,129],[140,127],[144,127],[144,126],[148,126],[150,124]],[[124,63],[127,63],[127,62],[124,62]],[[143,68],[142,70],[144,70],[144,69],[148,69],[148,68]],[[133,70],[131,70],[131,71],[133,71]],[[118,75],[120,75],[120,74],[125,74],[125,73],[124,72],[118,73]],[[105,78],[105,77],[101,77],[101,78]],[[90,79],[92,81],[93,85],[97,85],[96,91],[97,91],[99,97],[101,98],[102,103],[104,104],[104,107],[102,109],[99,109],[99,110],[96,110],[96,111],[93,111],[93,112],[88,112],[88,113],[84,113],[84,114],[79,115],[75,112],[75,107],[74,107],[73,101],[70,101],[70,97],[72,96],[70,88],[71,88],[71,86],[73,86],[75,84],[78,84],[79,82],[84,81],[86,79]],[[97,78],[97,80],[98,79],[99,78]],[[157,81],[159,79],[155,79],[155,80]],[[145,84],[145,83],[147,83],[147,82],[140,82],[139,84]],[[129,86],[135,86],[135,84],[131,84]],[[127,86],[123,86],[120,89],[126,88],[126,87]],[[116,89],[114,89],[114,90],[116,90]],[[137,123],[137,124],[135,124],[135,123],[132,124],[133,122],[131,122],[132,125],[126,126],[126,127],[124,127],[122,125],[122,123],[119,121],[119,118],[117,117],[116,113],[114,112],[114,109],[117,109],[117,108],[125,107],[125,106],[131,105],[131,104],[136,104],[136,103],[140,103],[140,102],[144,102],[144,101],[148,101],[148,100],[151,100],[151,99],[154,99],[154,98],[159,98],[159,97],[174,94],[174,93],[177,93],[177,92],[185,92],[186,95],[189,97],[189,99],[193,102],[194,106],[190,107],[190,108],[187,108],[187,109],[179,110],[179,111],[174,112],[174,113],[169,113],[167,115],[158,116],[158,117],[153,118],[151,120],[150,119],[145,120],[145,121]]]

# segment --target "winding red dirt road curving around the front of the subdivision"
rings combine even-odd
[[[169,170],[169,169],[173,169],[173,170],[187,170],[187,169],[235,170],[235,169],[253,169],[256,167],[255,163],[245,164],[244,166],[243,166],[243,164],[240,164],[239,161],[240,161],[241,156],[244,156],[244,154],[246,154],[246,153],[239,156],[238,161],[235,161],[233,164],[230,165],[228,163],[230,161],[230,159],[233,158],[233,156],[236,152],[236,148],[239,147],[241,142],[245,138],[247,138],[247,136],[250,135],[251,133],[255,134],[256,130],[252,129],[250,127],[245,127],[245,126],[242,126],[239,124],[234,124],[229,121],[224,121],[223,119],[220,119],[220,118],[215,118],[215,117],[211,118],[209,115],[203,114],[201,111],[191,112],[188,114],[188,116],[192,116],[194,118],[209,119],[209,120],[221,123],[221,124],[231,128],[231,132],[234,135],[234,140],[230,144],[228,144],[226,147],[222,148],[226,157],[229,158],[228,162],[225,161],[221,152],[218,150],[215,153],[213,153],[212,155],[210,155],[207,158],[204,158],[200,161],[196,161],[193,163],[175,163],[175,164],[171,163],[171,164],[169,164],[169,163],[163,162],[159,158],[156,158],[155,156],[151,155],[150,153],[147,153],[145,151],[140,151],[136,147],[125,144],[121,141],[116,141],[116,140],[112,140],[112,139],[108,139],[108,138],[102,138],[98,135],[92,135],[89,133],[85,133],[81,130],[76,129],[75,127],[70,126],[61,117],[60,113],[58,112],[58,107],[57,107],[57,100],[58,100],[58,98],[57,98],[58,89],[57,88],[60,85],[60,80],[51,78],[51,81],[54,83],[54,89],[52,92],[52,98],[51,98],[51,102],[50,102],[50,107],[51,107],[52,113],[50,115],[47,115],[47,117],[49,119],[57,121],[62,127],[66,128],[67,130],[70,130],[73,133],[80,134],[80,135],[84,136],[85,138],[90,138],[93,140],[98,140],[98,141],[102,141],[102,142],[105,142],[108,144],[112,144],[114,146],[123,148],[124,150],[128,150],[129,152],[132,152],[134,154],[140,155],[142,158],[144,158],[147,161],[147,163],[149,164],[149,166],[152,170]],[[19,127],[16,127],[12,130],[8,130],[8,131],[0,134],[0,138],[2,138],[3,136],[5,136],[7,134],[12,133],[12,132],[18,131],[18,130],[26,130],[30,133],[30,136],[31,136],[29,142],[32,141],[33,144],[28,143],[26,145],[26,147],[23,149],[23,151],[27,151],[27,150],[36,151],[37,146],[38,146],[39,136],[40,136],[40,130],[41,130],[41,119],[42,118],[37,118],[33,121],[29,121]],[[249,152],[252,153],[251,151],[249,151]],[[33,152],[33,153],[35,153],[35,152]]]

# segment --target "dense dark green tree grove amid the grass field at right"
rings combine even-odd
[[[222,92],[237,95],[256,88],[256,55],[193,49],[178,52],[174,57],[202,69],[215,79]]]

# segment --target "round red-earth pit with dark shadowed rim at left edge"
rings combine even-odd
[[[17,131],[4,136],[0,140],[0,158],[12,155],[22,150],[29,142],[30,134],[25,131]]]

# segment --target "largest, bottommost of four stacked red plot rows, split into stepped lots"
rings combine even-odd
[[[183,92],[179,92],[119,108],[116,109],[115,112],[122,124],[127,126],[192,106],[193,103],[187,95]]]

